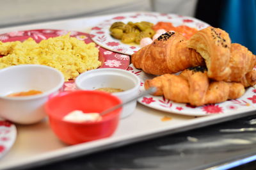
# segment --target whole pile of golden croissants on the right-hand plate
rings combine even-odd
[[[239,98],[244,88],[256,84],[256,56],[211,26],[189,40],[180,33],[164,33],[131,61],[146,73],[160,75],[145,81],[145,89],[157,87],[154,95],[195,106]]]

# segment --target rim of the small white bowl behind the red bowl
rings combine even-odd
[[[79,83],[79,82],[83,81],[84,75],[87,75],[87,74],[90,75],[91,72],[102,72],[102,73],[104,73],[104,74],[108,74],[108,73],[106,73],[106,71],[127,73],[127,74],[131,75],[134,79],[136,79],[136,81],[138,82],[138,83],[136,84],[136,86],[134,86],[134,87],[131,88],[131,89],[127,89],[127,90],[125,90],[125,91],[120,91],[120,92],[115,92],[115,93],[113,93],[113,94],[116,94],[116,95],[117,95],[117,94],[125,95],[126,93],[129,94],[133,89],[136,89],[136,88],[139,88],[139,87],[140,87],[140,79],[139,79],[139,77],[138,77],[137,75],[135,75],[134,73],[131,73],[131,72],[127,71],[127,70],[122,70],[122,69],[119,69],[119,68],[99,68],[99,69],[97,69],[97,70],[89,70],[89,71],[87,71],[87,72],[81,73],[81,74],[77,77],[77,79],[76,79],[76,86],[77,86],[79,89],[84,89],[83,87],[80,86],[80,83]]]

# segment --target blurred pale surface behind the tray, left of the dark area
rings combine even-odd
[[[0,27],[120,12],[195,15],[196,0],[0,0]]]

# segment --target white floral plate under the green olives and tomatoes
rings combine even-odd
[[[112,19],[105,20],[104,22],[100,23],[95,27],[92,27],[90,35],[92,36],[92,40],[95,43],[97,43],[101,47],[104,47],[105,49],[127,55],[132,55],[134,52],[138,51],[140,49],[140,45],[125,44],[109,35],[109,27],[114,22],[118,21],[124,22],[125,24],[129,21],[148,21],[152,22],[153,24],[157,24],[157,22],[159,21],[164,21],[172,22],[173,26],[185,25],[189,27],[195,27],[197,29],[203,29],[209,26],[209,24],[206,24],[205,22],[202,22],[193,17],[184,17],[181,15],[164,13],[134,13],[132,15],[118,15],[116,17],[113,17]]]

